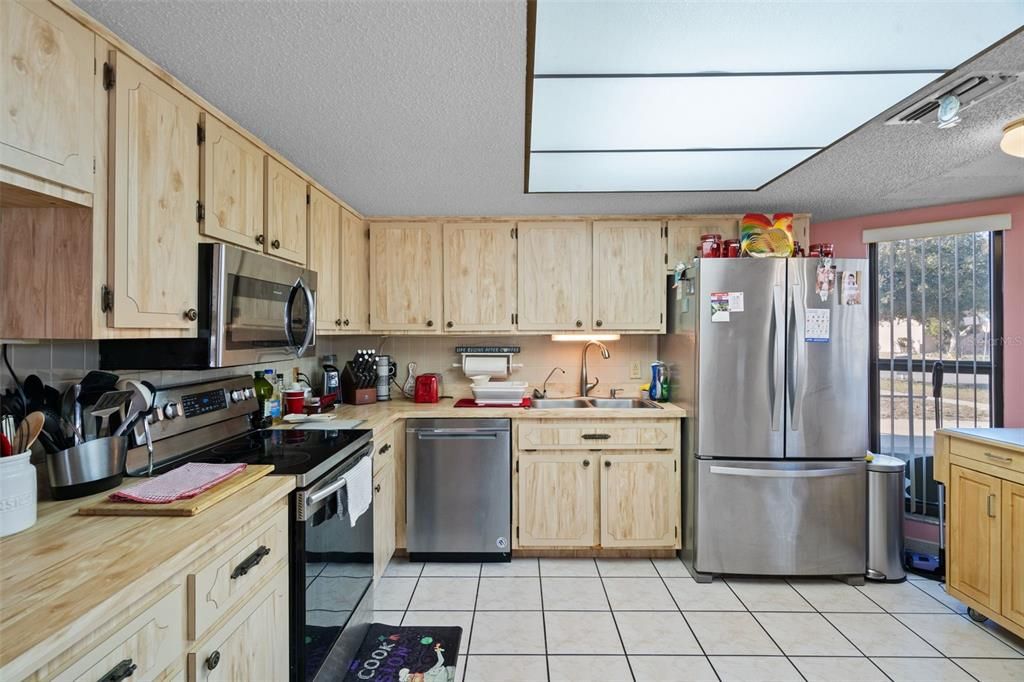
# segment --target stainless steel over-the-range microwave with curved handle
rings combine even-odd
[[[196,338],[99,342],[104,370],[206,370],[301,357],[316,343],[316,272],[199,245]]]

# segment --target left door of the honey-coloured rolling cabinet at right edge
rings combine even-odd
[[[999,484],[978,471],[949,468],[949,586],[999,610]]]

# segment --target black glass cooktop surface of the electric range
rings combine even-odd
[[[263,429],[193,453],[184,462],[272,464],[274,475],[298,477],[305,486],[370,442],[369,429],[321,431]]]

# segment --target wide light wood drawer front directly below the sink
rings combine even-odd
[[[675,450],[677,420],[524,422],[519,450]]]

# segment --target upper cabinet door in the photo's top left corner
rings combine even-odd
[[[0,36],[0,162],[92,191],[92,32],[47,0],[3,0]]]

